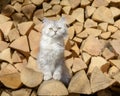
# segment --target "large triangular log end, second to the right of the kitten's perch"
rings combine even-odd
[[[97,67],[95,67],[92,71],[90,82],[92,92],[95,93],[111,86],[115,83],[115,80],[105,76]]]

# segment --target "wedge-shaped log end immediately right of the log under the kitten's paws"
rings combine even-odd
[[[68,91],[70,93],[91,94],[90,82],[84,70],[77,72],[72,77]]]

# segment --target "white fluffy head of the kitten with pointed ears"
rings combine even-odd
[[[46,35],[51,38],[64,38],[67,36],[67,26],[64,17],[62,17],[58,21],[53,21],[44,18],[43,25],[43,35]]]

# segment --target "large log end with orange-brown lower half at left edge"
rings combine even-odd
[[[8,88],[17,89],[22,85],[20,73],[11,64],[0,71],[0,81]]]

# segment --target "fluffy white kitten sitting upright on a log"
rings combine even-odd
[[[64,64],[64,38],[67,35],[65,19],[62,17],[52,21],[44,18],[43,25],[37,63],[44,80],[53,78],[68,83],[70,75]]]

